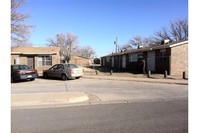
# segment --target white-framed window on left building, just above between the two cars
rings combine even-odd
[[[39,56],[38,57],[38,66],[51,66],[52,65],[52,56]]]

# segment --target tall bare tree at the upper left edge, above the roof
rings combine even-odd
[[[11,0],[11,41],[12,46],[31,45],[28,41],[32,25],[25,24],[25,20],[30,18],[27,13],[20,13],[18,8],[25,3],[25,0]]]

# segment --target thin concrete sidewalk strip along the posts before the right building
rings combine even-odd
[[[120,76],[111,76],[111,75],[84,75],[83,78],[188,85],[188,80],[186,79],[125,77],[125,76],[120,77]]]

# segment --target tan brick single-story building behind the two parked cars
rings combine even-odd
[[[28,65],[39,74],[57,63],[60,63],[59,47],[11,47],[11,64]]]

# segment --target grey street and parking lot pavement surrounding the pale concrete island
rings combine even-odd
[[[11,93],[84,92],[82,104],[12,108],[12,133],[187,133],[188,86],[97,79],[11,85]],[[96,98],[97,97],[97,98]]]

